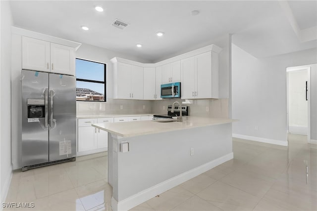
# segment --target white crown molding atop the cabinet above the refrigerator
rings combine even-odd
[[[77,50],[81,45],[81,43],[79,43],[79,42],[68,41],[68,40],[56,38],[56,37],[53,37],[50,35],[45,35],[45,34],[41,34],[38,32],[33,32],[30,30],[21,29],[21,28],[14,27],[14,26],[11,27],[11,32],[12,32],[12,34],[22,35],[25,37],[35,38],[35,39],[42,40],[42,41],[66,45],[69,47],[73,47],[75,50]]]

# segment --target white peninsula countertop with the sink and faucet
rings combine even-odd
[[[161,121],[161,120],[157,120]],[[100,128],[110,133],[122,137],[132,137],[160,133],[174,130],[190,129],[195,127],[206,127],[233,123],[237,120],[222,118],[205,118],[205,117],[183,117],[183,122],[159,123],[157,121],[139,121],[139,122],[121,122],[121,123],[102,123],[93,124],[93,127]]]

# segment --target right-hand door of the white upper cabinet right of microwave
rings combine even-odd
[[[197,70],[196,98],[211,98],[211,51],[195,56]]]

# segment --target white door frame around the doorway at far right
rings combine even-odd
[[[289,107],[288,107],[288,88],[289,88],[289,76],[288,73],[292,71],[307,71],[307,142],[311,142],[311,65],[303,65],[303,66],[296,66],[296,67],[287,67],[286,68],[286,107],[287,107],[287,141],[288,141],[288,134],[289,134]]]

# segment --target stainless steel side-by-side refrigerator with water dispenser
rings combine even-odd
[[[22,171],[76,159],[76,79],[22,70]]]

